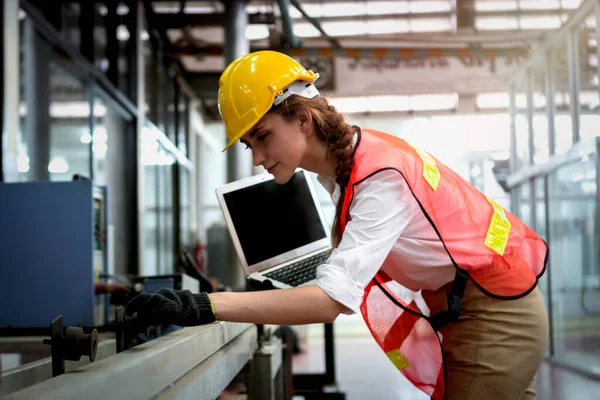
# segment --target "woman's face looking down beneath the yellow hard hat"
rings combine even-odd
[[[277,113],[268,113],[240,141],[252,150],[254,165],[262,165],[283,184],[301,167],[307,147],[301,128],[299,120],[288,122]]]

